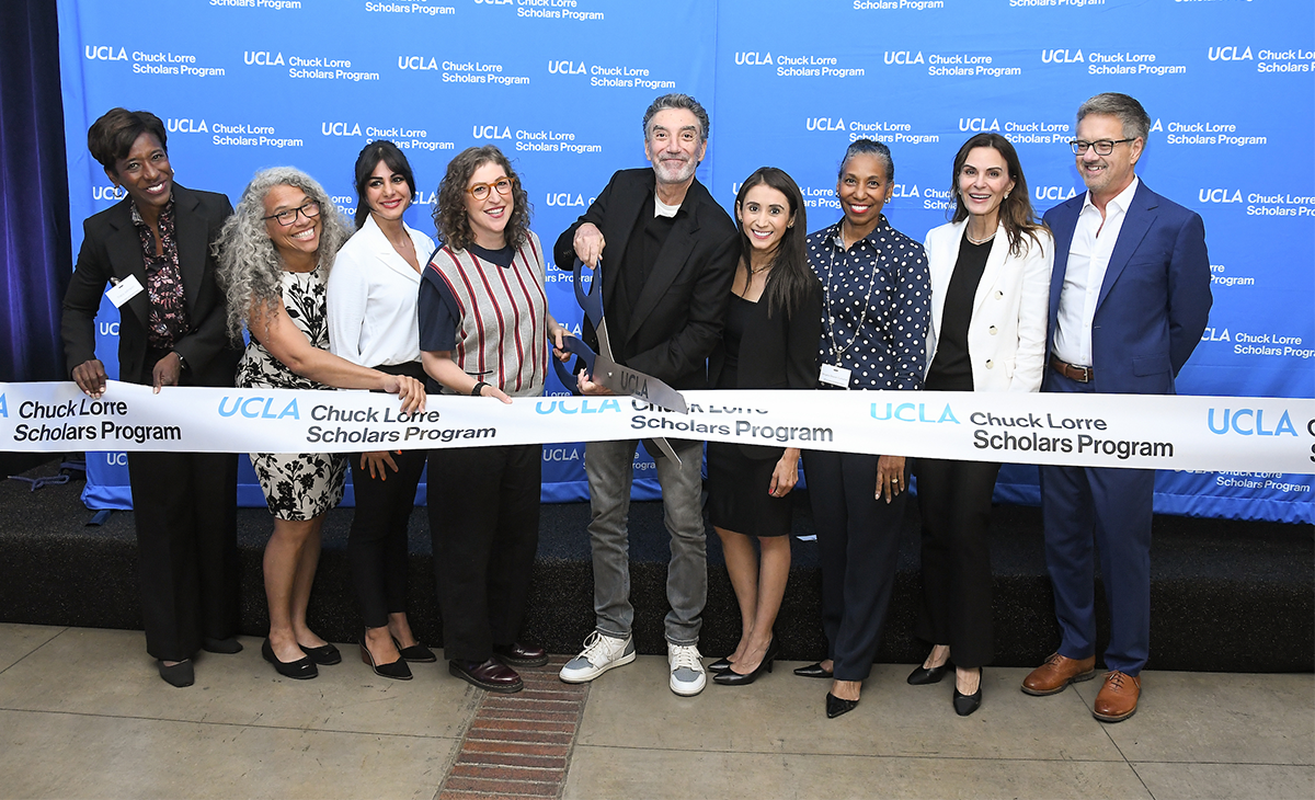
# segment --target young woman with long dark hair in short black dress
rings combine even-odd
[[[815,388],[822,284],[803,251],[803,195],[784,171],[761,167],[740,187],[735,217],[743,255],[722,339],[709,362],[710,384]],[[707,445],[709,513],[740,607],[739,645],[709,667],[723,686],[753,683],[776,658],[772,626],[790,574],[790,489],[798,464],[797,447]]]

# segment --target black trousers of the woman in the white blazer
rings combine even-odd
[[[949,645],[960,667],[994,658],[992,629],[990,500],[998,463],[919,458],[922,613],[914,633]]]

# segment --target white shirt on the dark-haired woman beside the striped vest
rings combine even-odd
[[[434,241],[410,225],[421,267]],[[419,274],[397,254],[373,217],[338,251],[329,272],[329,349],[363,367],[419,361]]]

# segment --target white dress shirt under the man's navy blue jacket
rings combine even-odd
[[[1095,303],[1101,297],[1105,271],[1110,266],[1114,245],[1119,241],[1123,218],[1140,183],[1134,175],[1132,183],[1105,205],[1103,220],[1101,209],[1091,203],[1090,191],[1082,201],[1082,212],[1073,229],[1073,243],[1069,245],[1064,288],[1060,289],[1059,321],[1055,326],[1055,357],[1060,361],[1081,367],[1091,366]]]

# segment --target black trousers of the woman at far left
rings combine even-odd
[[[201,638],[238,626],[237,493],[233,453],[129,453],[146,651],[196,655]]]

